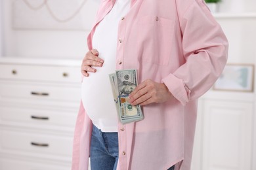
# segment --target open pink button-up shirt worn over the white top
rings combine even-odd
[[[103,0],[88,37],[112,9]],[[228,41],[203,0],[133,0],[119,22],[116,69],[137,69],[139,82],[163,82],[174,98],[142,107],[144,120],[118,124],[117,169],[190,169],[197,99],[221,75]],[[121,61],[121,64],[119,62]],[[93,76],[93,74],[91,74]],[[74,135],[72,169],[88,169],[91,120],[83,105]]]

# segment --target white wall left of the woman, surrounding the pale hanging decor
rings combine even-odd
[[[87,52],[86,39],[89,29],[13,29],[12,5],[15,0],[1,1],[3,1],[1,13],[5,16],[3,20],[4,56],[83,58]],[[87,21],[90,27],[95,18],[98,3],[98,0],[91,0],[91,7],[85,7],[86,11],[82,11],[90,15],[91,20]]]

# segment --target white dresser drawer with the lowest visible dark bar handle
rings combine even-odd
[[[0,152],[44,158],[72,156],[73,137],[2,129],[0,139]]]

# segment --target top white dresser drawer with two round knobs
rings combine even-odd
[[[0,78],[14,80],[43,80],[52,82],[81,82],[80,67],[0,64]]]

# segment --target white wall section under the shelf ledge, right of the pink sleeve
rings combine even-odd
[[[229,41],[228,63],[255,63],[256,14],[253,17],[219,17]]]

